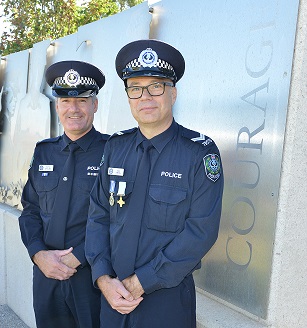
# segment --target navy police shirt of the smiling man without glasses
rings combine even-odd
[[[89,193],[103,161],[107,135],[92,128],[76,141],[75,173],[71,203],[66,221],[65,248],[74,247],[73,254],[82,265]],[[64,134],[37,143],[22,194],[23,211],[19,219],[22,240],[32,258],[40,250],[49,249],[44,241],[52,215],[59,179],[69,155],[70,139]],[[66,200],[63,200],[65,202]]]

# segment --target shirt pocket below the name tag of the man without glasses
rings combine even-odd
[[[36,182],[36,192],[39,198],[39,206],[43,213],[49,214],[52,211],[59,177],[39,177]]]

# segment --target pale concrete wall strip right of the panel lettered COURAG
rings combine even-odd
[[[300,2],[280,191],[268,319],[307,327],[307,2]]]

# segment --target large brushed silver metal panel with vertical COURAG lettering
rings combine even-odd
[[[298,0],[164,0],[151,36],[180,49],[177,121],[221,150],[220,235],[197,285],[266,318]]]

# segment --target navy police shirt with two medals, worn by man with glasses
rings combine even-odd
[[[117,276],[112,263],[123,224],[129,223],[127,209],[143,139],[135,128],[106,144],[105,162],[91,193],[85,246],[94,283],[102,275]],[[151,172],[144,177],[149,191],[134,265],[145,293],[177,286],[200,267],[217,239],[223,193],[220,154],[210,138],[173,121],[151,142]],[[111,175],[109,168],[124,169],[123,175]],[[112,180],[115,204],[110,206]],[[122,207],[116,203],[119,182],[126,184]]]

